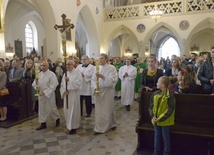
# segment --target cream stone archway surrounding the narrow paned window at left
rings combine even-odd
[[[41,54],[44,49],[44,56],[55,59],[58,57],[58,41],[57,32],[53,28],[56,24],[54,13],[49,1],[20,1],[9,0],[5,10],[5,43],[11,42],[14,45],[14,40],[21,40],[25,49],[25,25],[32,21],[38,30],[38,47],[36,50]],[[50,37],[51,35],[51,37]],[[23,51],[23,56],[26,51]]]

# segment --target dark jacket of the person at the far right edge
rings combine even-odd
[[[199,70],[198,79],[201,81],[203,90],[207,93],[212,93],[212,85],[210,80],[213,79],[213,64],[211,60],[205,61]]]

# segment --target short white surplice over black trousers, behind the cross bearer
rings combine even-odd
[[[92,75],[95,73],[95,67],[91,64],[89,64],[87,67],[84,67],[83,65],[78,65],[76,69],[84,74],[82,81],[82,89],[80,89],[80,95],[91,96],[91,78]]]

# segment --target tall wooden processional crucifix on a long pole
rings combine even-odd
[[[65,62],[65,77],[67,77],[67,69],[66,69],[66,63],[67,63],[67,51],[66,51],[66,31],[73,29],[74,24],[72,23],[67,23],[66,22],[66,15],[62,14],[62,25],[55,25],[54,28],[56,30],[59,30],[61,33],[62,37],[62,50],[63,50],[63,57],[64,57],[64,62]],[[68,83],[66,82],[65,84],[65,90],[68,91]],[[68,109],[68,95],[66,95],[66,106]]]

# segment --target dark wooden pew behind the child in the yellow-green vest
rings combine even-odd
[[[142,92],[139,102],[137,151],[153,150],[154,130],[148,107],[152,93]],[[173,155],[214,154],[214,96],[175,94],[175,125],[170,128]]]

